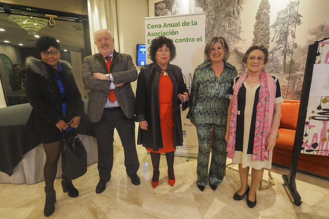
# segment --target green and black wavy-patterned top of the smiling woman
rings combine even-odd
[[[226,126],[229,92],[236,68],[224,61],[223,73],[217,78],[210,61],[198,65],[194,71],[187,119],[202,124]]]

